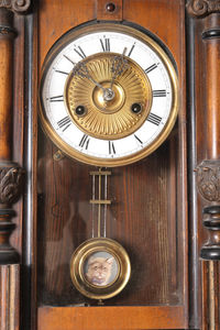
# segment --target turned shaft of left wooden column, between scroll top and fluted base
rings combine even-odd
[[[0,264],[19,262],[9,237],[14,229],[11,205],[19,197],[22,170],[12,157],[13,13],[0,8]]]

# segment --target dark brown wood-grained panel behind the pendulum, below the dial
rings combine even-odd
[[[127,287],[105,305],[182,302],[184,219],[177,215],[177,187],[183,176],[176,169],[177,141],[173,133],[146,160],[110,169],[106,234],[127,250],[132,271]],[[74,287],[69,274],[73,252],[97,231],[97,209],[92,212],[89,202],[89,173],[97,168],[67,157],[54,161],[57,148],[42,132],[38,151],[38,302],[97,305]]]

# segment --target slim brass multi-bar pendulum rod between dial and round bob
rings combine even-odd
[[[90,204],[92,205],[92,238],[94,238],[94,218],[95,218],[95,206],[97,206],[97,237],[106,237],[106,220],[107,220],[107,206],[111,205],[111,200],[107,199],[107,193],[108,193],[108,176],[111,175],[110,170],[102,170],[102,168],[99,168],[98,170],[90,172],[90,175],[92,176],[92,199],[90,200]],[[105,182],[102,184],[102,179],[105,178]],[[98,185],[98,194],[96,193],[96,186]],[[103,186],[103,189],[102,189]],[[97,196],[98,195],[98,196]],[[103,219],[101,217],[101,211],[103,208]],[[103,231],[101,233],[101,222],[103,222]]]

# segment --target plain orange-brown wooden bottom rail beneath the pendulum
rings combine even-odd
[[[38,330],[186,329],[182,307],[41,307]]]

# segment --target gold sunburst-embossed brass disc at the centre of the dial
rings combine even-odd
[[[69,114],[85,133],[98,139],[121,139],[135,132],[146,120],[152,105],[151,84],[141,67],[127,57],[128,67],[114,77],[112,58],[119,54],[99,53],[84,59],[88,77],[74,70],[67,78],[65,99]],[[108,97],[105,92],[110,92]],[[132,112],[132,105],[142,111]],[[84,116],[76,108],[85,107]]]

